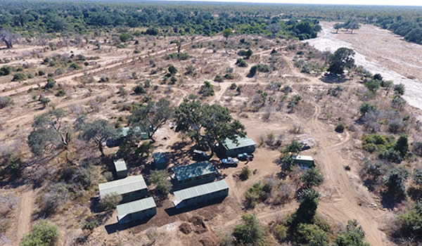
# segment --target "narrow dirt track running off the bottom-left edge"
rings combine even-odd
[[[18,246],[23,236],[29,233],[31,230],[31,216],[33,205],[34,190],[32,188],[26,188],[22,195],[20,195],[20,203],[18,210],[18,228],[16,230],[16,238],[13,241],[14,246]]]

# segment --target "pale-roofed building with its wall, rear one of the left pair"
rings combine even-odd
[[[128,176],[124,179],[100,183],[98,188],[100,190],[100,198],[107,194],[117,193],[122,195],[122,202],[144,198],[148,192],[142,175]]]

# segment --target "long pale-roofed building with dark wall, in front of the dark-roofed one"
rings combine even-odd
[[[227,195],[229,195],[229,186],[223,179],[174,191],[174,198],[176,199],[173,203],[177,208],[195,206],[201,203],[212,202],[212,200],[224,199]]]

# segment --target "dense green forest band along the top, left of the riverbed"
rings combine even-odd
[[[94,2],[6,1],[0,27],[16,32],[79,32],[115,27],[148,27],[146,34],[212,35],[228,28],[238,34],[309,39],[321,30],[316,20],[289,19],[259,6],[219,4],[98,4]],[[279,12],[281,13],[281,12]]]

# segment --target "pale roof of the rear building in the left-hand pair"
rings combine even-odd
[[[120,195],[134,192],[136,190],[146,189],[146,183],[143,180],[142,175],[128,176],[124,179],[110,181],[107,183],[100,183],[98,185],[100,189],[100,196],[107,195],[110,193],[118,193]]]

